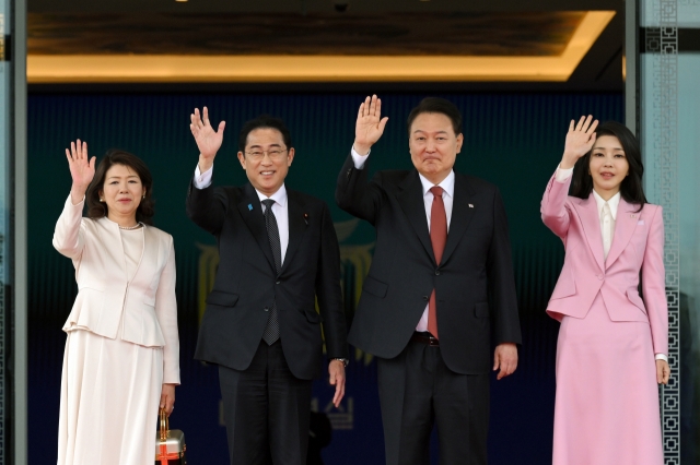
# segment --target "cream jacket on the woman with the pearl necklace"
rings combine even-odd
[[[179,384],[179,338],[175,299],[173,237],[153,226],[143,228],[143,252],[132,279],[119,225],[83,218],[84,201],[70,195],[56,224],[54,247],[72,259],[78,297],[63,331],[88,330],[147,347],[163,347],[163,383]]]

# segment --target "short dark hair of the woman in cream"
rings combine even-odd
[[[108,151],[104,158],[102,158],[102,162],[97,165],[97,169],[95,169],[95,177],[88,187],[88,192],[85,193],[88,216],[93,219],[107,216],[107,204],[100,202],[100,191],[104,189],[107,171],[114,165],[124,165],[133,169],[141,179],[141,184],[143,189],[145,189],[145,199],[141,199],[141,203],[139,203],[139,207],[136,210],[136,220],[152,225],[153,220],[151,218],[155,214],[153,210],[155,202],[153,202],[152,198],[153,177],[151,176],[151,171],[149,171],[148,166],[145,166],[145,163],[143,163],[141,158],[128,152],[114,148]]]

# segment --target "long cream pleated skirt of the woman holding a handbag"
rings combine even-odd
[[[153,465],[163,349],[68,333],[58,465]]]

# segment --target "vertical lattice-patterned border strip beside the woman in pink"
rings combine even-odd
[[[653,134],[654,188],[664,207],[666,243],[666,297],[668,299],[668,361],[673,377],[661,389],[661,415],[666,465],[680,464],[680,372],[679,303],[680,240],[678,217],[678,5],[698,0],[652,0],[653,24],[646,27],[644,49],[652,69],[654,118],[645,129]]]

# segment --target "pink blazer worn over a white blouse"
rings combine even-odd
[[[604,261],[600,219],[593,194],[569,196],[571,177],[552,178],[541,203],[542,220],[564,242],[564,265],[547,305],[547,313],[584,318],[598,293],[612,321],[648,322],[655,354],[668,354],[668,309],[664,271],[662,207],[620,199],[615,235]],[[642,295],[639,295],[640,271]]]

